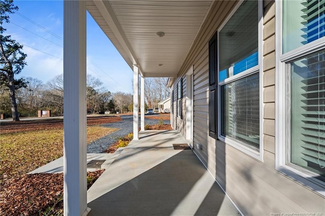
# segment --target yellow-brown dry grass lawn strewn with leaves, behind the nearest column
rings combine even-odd
[[[87,127],[87,143],[116,128]],[[28,173],[63,155],[63,130],[49,129],[8,133],[0,136],[0,184],[5,179]]]

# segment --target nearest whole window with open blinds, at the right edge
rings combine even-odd
[[[282,15],[278,104],[284,104],[276,117],[277,146],[284,152],[277,168],[303,176],[318,190],[325,187],[325,1],[283,1],[277,11]]]

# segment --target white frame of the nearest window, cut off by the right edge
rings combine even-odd
[[[275,169],[325,196],[325,182],[315,178],[312,171],[287,162],[287,159],[290,158],[290,145],[286,137],[286,134],[290,134],[288,126],[290,111],[286,111],[287,101],[285,96],[286,76],[288,76],[286,67],[288,62],[325,49],[325,38],[323,37],[282,54],[282,4],[283,1],[275,1],[275,103],[277,104],[275,107]]]

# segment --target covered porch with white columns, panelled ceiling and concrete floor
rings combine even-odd
[[[118,212],[123,209],[139,209],[139,214],[145,209],[147,214],[206,214],[209,210],[237,214],[199,159],[190,150],[173,149],[177,140],[186,143],[177,131],[144,131],[145,77],[178,76],[195,40],[202,37],[200,29],[211,7],[213,1],[64,1],[64,215],[86,215],[89,207],[90,214],[101,215],[107,208],[112,212],[114,206],[118,214],[126,214]],[[134,85],[134,140],[88,193],[87,10],[133,69]],[[193,104],[191,100],[186,98],[186,103]],[[101,180],[105,178],[107,181]],[[123,195],[132,200],[124,203]],[[211,196],[214,198],[209,199]],[[116,202],[117,197],[121,202]],[[146,208],[149,201],[153,205]]]

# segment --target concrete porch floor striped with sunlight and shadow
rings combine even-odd
[[[88,215],[239,215],[175,130],[140,132],[88,190]]]

